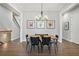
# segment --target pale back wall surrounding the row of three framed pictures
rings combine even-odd
[[[28,33],[35,34],[35,33],[47,33],[47,34],[58,34],[60,31],[59,19],[60,15],[58,11],[44,11],[44,14],[48,16],[49,20],[55,20],[55,29],[27,29],[27,20],[35,20],[35,16],[40,15],[40,11],[25,11],[23,13],[23,41],[25,41],[25,35]]]

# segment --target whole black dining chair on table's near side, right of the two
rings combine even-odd
[[[44,45],[47,45],[48,46],[48,50],[49,50],[49,53],[50,53],[50,41],[51,41],[51,37],[42,37],[42,42],[41,42],[41,52],[43,52],[43,47]]]

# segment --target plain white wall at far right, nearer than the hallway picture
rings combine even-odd
[[[70,12],[72,18],[72,42],[79,44],[79,7]]]

